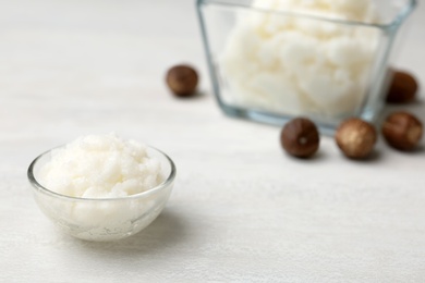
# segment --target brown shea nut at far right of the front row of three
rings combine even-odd
[[[423,125],[417,118],[408,112],[396,112],[384,122],[382,135],[391,147],[412,150],[422,138]]]

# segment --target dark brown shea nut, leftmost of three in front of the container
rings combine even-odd
[[[313,156],[319,147],[319,142],[316,125],[305,118],[296,118],[288,122],[280,134],[283,149],[299,158]]]

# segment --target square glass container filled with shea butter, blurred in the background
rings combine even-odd
[[[332,133],[375,122],[396,36],[415,0],[198,0],[210,78],[224,113]]]

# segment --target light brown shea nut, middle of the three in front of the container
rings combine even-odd
[[[352,159],[364,159],[371,155],[377,140],[375,127],[357,118],[341,123],[336,133],[336,142],[342,152]]]

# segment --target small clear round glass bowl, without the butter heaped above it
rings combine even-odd
[[[62,231],[87,241],[116,241],[134,235],[162,211],[171,194],[175,167],[163,152],[147,147],[161,163],[163,182],[141,194],[120,198],[80,198],[61,195],[38,182],[40,168],[51,158],[49,150],[29,165],[27,176],[40,210]]]

